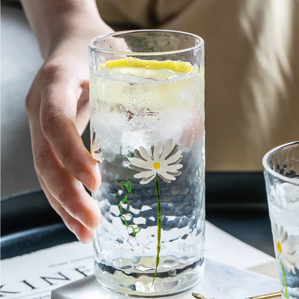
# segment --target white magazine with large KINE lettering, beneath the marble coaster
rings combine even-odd
[[[206,222],[205,257],[239,269],[271,263],[273,257]],[[219,249],[221,248],[221,249]],[[250,256],[250,259],[247,257]],[[0,297],[51,298],[51,291],[94,274],[92,244],[72,242],[0,262]]]

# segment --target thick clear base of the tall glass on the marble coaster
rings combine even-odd
[[[176,295],[195,286],[205,270],[203,260],[182,269],[158,272],[152,286],[154,272],[124,272],[102,263],[95,263],[95,276],[103,287],[121,295],[151,297]]]

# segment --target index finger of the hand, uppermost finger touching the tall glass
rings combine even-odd
[[[42,132],[68,171],[89,190],[100,186],[100,171],[75,126],[77,100],[82,92],[74,80],[52,80],[42,92]]]

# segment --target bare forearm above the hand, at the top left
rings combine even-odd
[[[61,39],[112,32],[94,0],[21,0],[26,16],[47,59]],[[98,33],[95,33],[98,32]]]

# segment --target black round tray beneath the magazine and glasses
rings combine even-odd
[[[274,256],[263,173],[207,173],[206,219]],[[1,259],[75,240],[41,190],[1,199]]]

